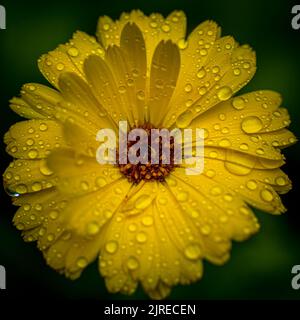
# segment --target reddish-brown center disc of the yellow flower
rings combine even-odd
[[[158,136],[155,138],[156,140],[156,148],[153,148],[154,140],[151,137],[151,130],[155,129],[150,123],[143,124],[139,127],[135,127],[134,129],[143,129],[147,133],[146,139],[142,141],[142,143],[146,144],[146,150],[148,152],[144,153],[141,156],[141,149],[134,148],[134,145],[138,142],[141,142],[141,138],[137,137],[136,141],[130,141],[127,139],[127,152],[123,157],[127,161],[125,164],[121,164],[120,154],[118,152],[117,157],[117,165],[120,169],[120,172],[127,177],[130,182],[139,183],[141,180],[152,181],[158,180],[163,182],[165,178],[169,175],[169,173],[177,166],[174,163],[174,138],[169,136],[169,139],[163,139],[162,136]],[[129,138],[129,134],[127,135]],[[168,159],[166,160],[165,151],[168,149],[169,154]],[[157,152],[159,151],[159,153]],[[134,155],[140,158],[140,161],[136,164],[133,164],[131,160],[131,155]],[[158,154],[157,154],[158,153]],[[121,155],[122,156],[122,155]],[[152,163],[152,159],[157,157],[157,161]]]

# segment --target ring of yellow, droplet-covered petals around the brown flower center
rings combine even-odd
[[[29,83],[11,100],[30,120],[5,135],[16,159],[4,183],[20,206],[17,229],[52,268],[75,279],[99,257],[110,292],[131,294],[140,283],[164,298],[200,279],[203,259],[223,264],[231,240],[257,232],[248,205],[284,212],[278,193],[291,183],[281,149],[296,141],[288,112],[273,91],[233,98],[254,75],[255,54],[213,21],[186,39],[180,11],[101,17],[97,39],[76,32],[38,63],[55,89]],[[98,130],[121,120],[204,128],[203,174],[178,166],[138,181],[98,164]]]

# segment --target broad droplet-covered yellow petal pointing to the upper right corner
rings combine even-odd
[[[216,37],[213,36],[215,32],[212,31],[212,37]],[[208,46],[210,48],[211,45]],[[256,70],[255,54],[248,46],[242,46],[242,49],[236,46],[232,37],[223,37],[215,43],[212,40],[211,50],[200,49],[197,54],[201,60],[202,52],[202,62],[194,57],[188,70],[181,69],[165,126],[172,125],[177,119],[177,126],[187,127],[199,112],[228,100],[250,81]],[[240,54],[236,55],[235,50]],[[187,111],[189,121],[181,123],[180,115]]]

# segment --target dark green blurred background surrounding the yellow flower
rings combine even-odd
[[[66,42],[76,30],[95,33],[98,16],[118,18],[121,12],[139,8],[146,14],[169,14],[182,9],[188,31],[206,19],[217,21],[224,35],[249,43],[257,53],[258,70],[243,91],[272,89],[282,93],[300,136],[300,30],[291,28],[291,8],[284,0],[109,0],[109,1],[1,1],[7,11],[7,30],[0,30],[1,115],[0,134],[21,118],[8,108],[26,82],[46,84],[37,68],[38,57]],[[299,3],[300,4],[300,3]],[[288,212],[271,216],[257,212],[262,225],[256,236],[234,243],[231,260],[222,267],[205,263],[201,281],[173,289],[170,299],[299,299],[291,288],[291,268],[300,264],[299,196],[300,145],[285,151],[284,170],[294,183],[283,197]],[[10,162],[1,141],[1,172]],[[7,270],[11,298],[146,299],[138,290],[131,297],[109,294],[93,263],[75,282],[46,266],[35,244],[24,243],[11,223],[15,207],[1,189],[0,264]]]

